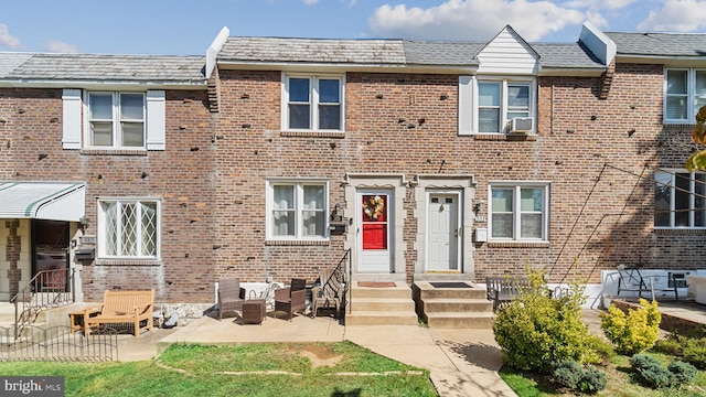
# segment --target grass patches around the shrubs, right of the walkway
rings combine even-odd
[[[676,360],[668,354],[648,353],[657,358],[664,366]],[[706,373],[698,372],[694,380],[681,389],[655,390],[643,386],[640,376],[632,371],[630,357],[616,355],[609,363],[599,366],[608,377],[608,385],[597,396],[611,397],[697,397],[706,395]],[[557,389],[547,376],[515,371],[504,366],[500,376],[520,397],[574,396],[571,393]]]

